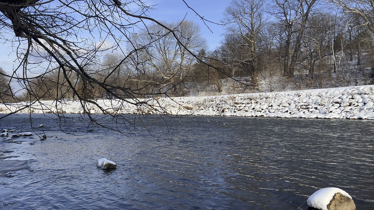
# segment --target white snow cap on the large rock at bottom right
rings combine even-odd
[[[310,195],[307,200],[307,204],[308,206],[316,209],[327,210],[327,205],[330,203],[335,193],[338,192],[352,199],[352,197],[346,191],[339,188],[330,187],[319,189],[318,191]]]

